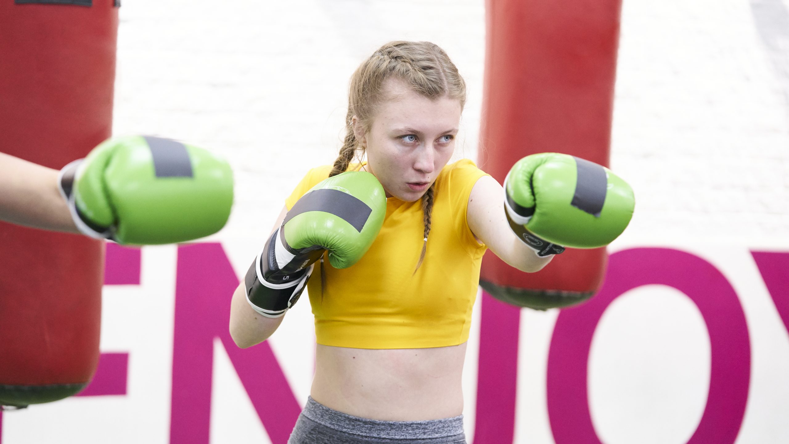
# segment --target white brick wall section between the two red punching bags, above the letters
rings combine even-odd
[[[118,37],[114,134],[191,141],[234,166],[237,200],[218,239],[263,239],[308,167],[335,160],[350,74],[390,40],[451,56],[469,83],[458,154],[476,155],[483,2],[233,4],[128,2]]]

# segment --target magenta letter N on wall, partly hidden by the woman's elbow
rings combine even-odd
[[[230,298],[237,285],[219,243],[178,247],[172,444],[208,444],[215,337],[225,346],[271,442],[285,444],[301,412],[269,345],[242,350],[230,337]]]

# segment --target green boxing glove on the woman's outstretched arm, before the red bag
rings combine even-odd
[[[504,180],[510,227],[540,256],[606,246],[633,217],[633,190],[606,167],[567,154],[525,156]]]

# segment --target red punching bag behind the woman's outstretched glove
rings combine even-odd
[[[483,169],[503,183],[515,162],[537,152],[608,167],[621,0],[487,6]],[[522,307],[567,307],[600,288],[607,258],[604,248],[567,249],[540,272],[522,273],[488,252],[480,284]]]

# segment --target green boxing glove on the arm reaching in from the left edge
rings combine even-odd
[[[81,232],[129,245],[211,235],[233,205],[225,160],[159,137],[108,139],[63,167],[58,182]]]

